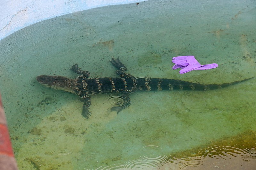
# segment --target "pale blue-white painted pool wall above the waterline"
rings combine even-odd
[[[0,40],[36,22],[101,6],[137,3],[136,0],[4,0],[0,6]]]

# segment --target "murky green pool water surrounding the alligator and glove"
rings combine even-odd
[[[0,89],[20,169],[253,169],[256,79],[212,91],[135,92],[110,111],[92,96],[86,120],[75,95],[38,75],[114,77],[120,56],[135,77],[221,84],[256,75],[254,1],[147,1],[75,12],[0,41]],[[195,55],[212,70],[180,75],[171,58]],[[223,159],[221,159],[223,158]],[[203,166],[204,165],[204,166]]]

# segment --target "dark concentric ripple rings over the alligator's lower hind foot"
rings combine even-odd
[[[128,96],[124,97],[120,94],[110,94],[106,99],[111,106],[111,110],[116,110],[117,112],[129,107],[132,102]]]

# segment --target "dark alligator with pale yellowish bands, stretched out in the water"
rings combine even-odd
[[[251,78],[247,78],[240,81],[224,84],[199,84],[191,83],[188,81],[168,79],[168,78],[135,78],[131,74],[127,74],[125,71],[127,68],[119,60],[119,57],[115,59],[112,57],[110,62],[116,67],[116,74],[120,78],[104,77],[104,78],[88,78],[90,76],[89,71],[80,70],[78,64],[74,64],[71,68],[77,74],[80,74],[75,79],[63,77],[63,76],[37,76],[36,80],[42,84],[58,90],[64,90],[75,93],[84,101],[82,115],[85,118],[89,118],[91,112],[89,107],[91,105],[90,96],[93,94],[115,93],[119,92],[125,102],[130,102],[129,95],[136,90],[142,91],[162,91],[162,90],[213,90],[234,85]],[[253,77],[252,77],[253,78]],[[117,111],[117,114],[122,110],[122,107],[111,107],[111,111]]]

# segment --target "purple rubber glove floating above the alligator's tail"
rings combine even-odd
[[[208,70],[218,67],[218,64],[205,64],[201,65],[195,59],[194,55],[178,56],[172,58],[172,63],[175,65],[172,67],[173,70],[180,68],[180,74],[187,73],[193,70]]]

